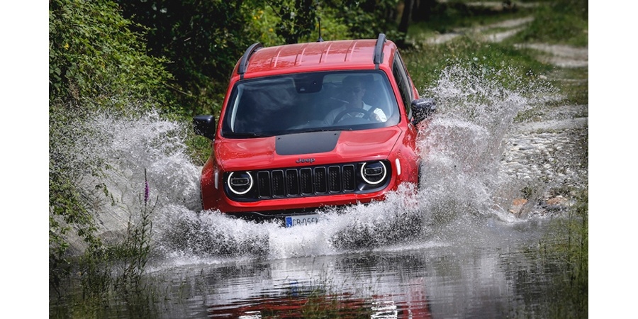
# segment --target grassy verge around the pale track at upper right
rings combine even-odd
[[[450,6],[451,8],[458,7]],[[476,10],[476,9],[474,9]],[[484,10],[483,10],[484,11]],[[435,86],[440,71],[459,62],[492,69],[509,68],[500,79],[503,87],[525,86],[538,78],[544,79],[564,96],[552,101],[553,106],[588,103],[588,67],[556,67],[544,62],[549,53],[517,45],[543,43],[547,45],[588,45],[587,4],[577,0],[542,1],[526,9],[501,11],[488,16],[477,16],[467,10],[444,11],[432,21],[415,23],[408,31],[413,47],[403,50],[410,75],[418,89]],[[456,38],[442,44],[427,44],[437,33],[459,30],[505,21],[513,18],[533,17],[520,32],[500,43],[490,43],[476,37],[502,28],[483,30],[481,33],[461,32]]]

